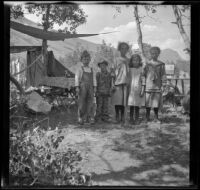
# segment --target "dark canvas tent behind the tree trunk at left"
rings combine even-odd
[[[27,52],[27,67],[29,67],[35,60],[36,62],[29,69],[27,69],[27,87],[39,87],[41,82],[45,78],[45,66],[41,59],[41,51],[28,51]],[[68,78],[75,77],[69,69],[64,67],[58,60],[55,59],[52,51],[48,51],[48,63],[47,63],[47,78],[58,78],[65,77],[66,72],[68,73]],[[66,77],[65,77],[66,78]],[[45,79],[45,81],[47,81]],[[57,83],[56,83],[57,84]],[[72,83],[65,82],[66,85],[61,86],[70,86]],[[51,85],[55,86],[55,85]]]

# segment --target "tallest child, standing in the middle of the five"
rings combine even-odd
[[[120,57],[116,59],[116,67],[114,68],[115,76],[112,102],[115,105],[116,123],[124,123],[124,112],[127,104],[127,74],[129,62],[126,54],[129,50],[129,45],[121,42],[118,45],[118,50],[120,51]]]

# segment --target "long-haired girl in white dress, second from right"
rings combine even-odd
[[[130,123],[139,124],[139,109],[145,105],[145,97],[140,95],[142,89],[142,59],[139,54],[131,56],[129,63],[129,96]],[[135,120],[133,115],[135,112]]]

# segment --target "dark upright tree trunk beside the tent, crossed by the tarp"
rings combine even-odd
[[[44,31],[47,31],[49,28],[49,12],[50,5],[47,5],[46,14],[44,16]],[[44,75],[47,76],[47,63],[48,63],[48,52],[47,52],[47,40],[42,40],[42,53],[43,53],[43,62],[44,62]]]

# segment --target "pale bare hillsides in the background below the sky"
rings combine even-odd
[[[21,18],[14,21],[27,24],[33,27],[41,28],[41,26],[38,26],[36,23],[26,18]],[[48,50],[52,50],[57,59],[59,59],[59,57],[64,57],[66,54],[72,53],[79,46],[82,46],[89,51],[96,52],[100,44],[95,44],[85,39],[87,38],[66,39],[64,41],[48,41],[47,42]],[[36,45],[37,46],[37,45],[42,44],[42,40],[11,29],[10,30],[10,44],[18,45],[18,46],[20,45]],[[13,55],[17,57],[21,57],[23,60],[26,59],[26,53],[13,54]],[[190,63],[188,61],[183,60],[175,50],[172,50],[172,49],[162,50],[161,55],[160,55],[160,60],[162,60],[165,63],[174,62],[175,64],[177,64],[180,70],[184,70],[187,72],[190,71]],[[69,67],[68,63],[62,63],[62,64],[66,67]],[[73,67],[72,70],[74,71],[75,68]]]

